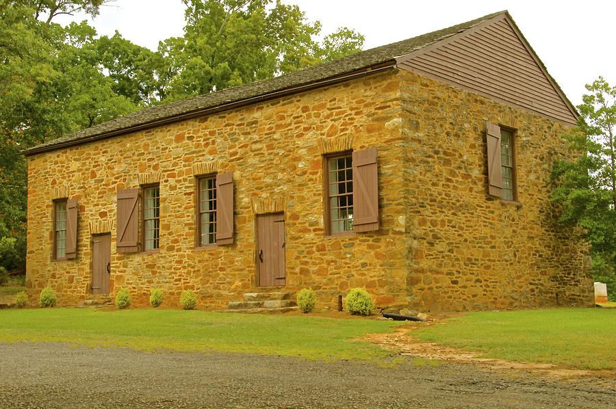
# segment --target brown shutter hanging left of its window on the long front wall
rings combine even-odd
[[[139,189],[118,190],[118,253],[138,251]]]

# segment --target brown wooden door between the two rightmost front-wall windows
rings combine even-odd
[[[259,287],[285,285],[285,213],[257,215]]]

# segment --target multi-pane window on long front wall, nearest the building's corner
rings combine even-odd
[[[329,234],[353,230],[352,155],[326,158],[326,199]]]

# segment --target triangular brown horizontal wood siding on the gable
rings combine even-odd
[[[577,120],[506,14],[398,57],[398,67],[568,124]]]

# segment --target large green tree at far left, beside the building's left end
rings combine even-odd
[[[136,109],[101,72],[94,29],[51,22],[78,7],[94,13],[102,3],[0,0],[0,241],[5,243],[0,265],[5,269],[25,267],[27,167],[21,150]],[[38,17],[45,10],[51,18],[42,21]]]

